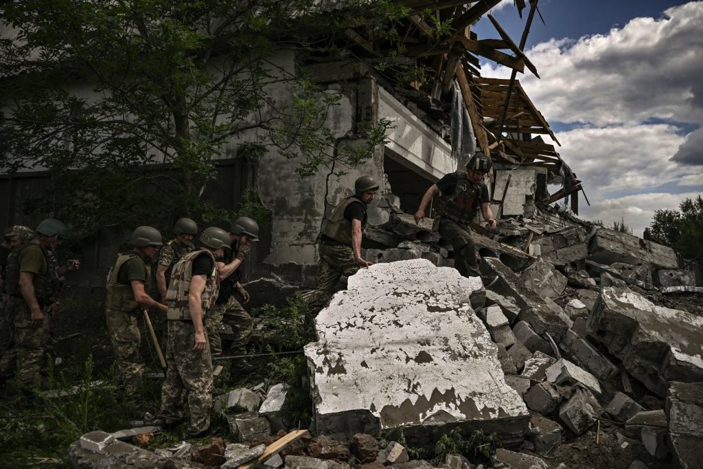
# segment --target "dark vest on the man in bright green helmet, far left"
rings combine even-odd
[[[58,279],[58,261],[52,250],[47,250],[37,241],[30,241],[20,248],[13,250],[7,257],[7,270],[5,272],[6,292],[21,296],[20,291],[20,254],[30,246],[39,246],[46,259],[46,274],[35,274],[32,283],[34,284],[34,296],[37,297],[40,307],[51,304],[58,300],[61,291],[61,282]]]

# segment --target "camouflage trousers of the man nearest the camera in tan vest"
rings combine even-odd
[[[182,420],[188,397],[188,433],[207,430],[212,407],[212,357],[209,347],[194,351],[193,321],[167,321],[166,379],[161,387],[160,416],[167,422]]]

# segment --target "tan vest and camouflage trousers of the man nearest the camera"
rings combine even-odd
[[[207,253],[212,257],[213,269],[206,277],[205,291],[201,295],[203,322],[205,311],[214,304],[219,293],[219,274],[212,253],[198,250],[188,253],[174,266],[172,281],[167,292],[168,340],[166,345],[166,379],[161,387],[160,416],[167,423],[181,420],[183,394],[188,394],[188,433],[195,435],[210,426],[212,407],[212,356],[209,345],[205,350],[193,350],[195,325],[188,304],[193,260]],[[207,338],[207,331],[205,332]]]

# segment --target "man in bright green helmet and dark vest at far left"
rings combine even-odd
[[[13,325],[14,344],[8,351],[16,356],[17,378],[25,390],[41,386],[44,355],[50,345],[53,315],[58,312],[60,278],[79,269],[71,259],[58,266],[56,253],[68,229],[63,222],[47,218],[37,226],[34,240],[15,249],[8,257],[6,304],[8,320]]]

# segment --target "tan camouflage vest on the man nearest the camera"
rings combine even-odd
[[[217,273],[217,259],[212,252],[208,250],[198,250],[188,252],[181,260],[176,263],[171,274],[171,283],[166,292],[166,300],[169,310],[166,313],[166,319],[191,319],[191,309],[188,307],[188,293],[191,289],[191,279],[193,278],[193,260],[203,252],[209,255],[212,259],[212,272],[205,280],[205,290],[200,295],[200,305],[202,312],[210,309],[217,300],[219,294],[219,274]]]

